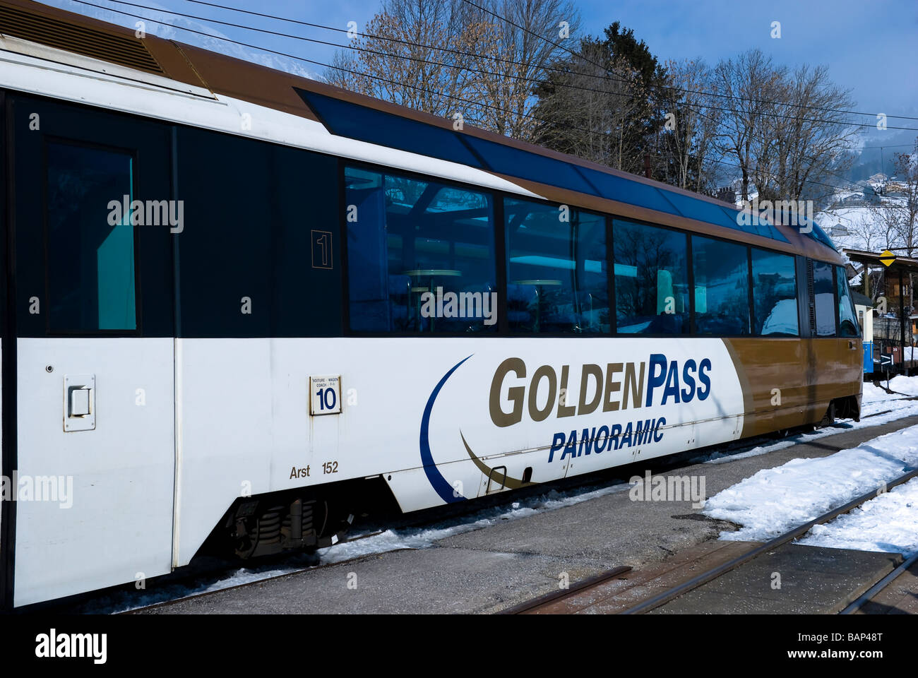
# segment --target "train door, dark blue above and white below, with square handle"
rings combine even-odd
[[[13,591],[28,605],[171,569],[171,132],[26,96],[9,115]]]

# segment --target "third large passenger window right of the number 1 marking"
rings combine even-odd
[[[612,244],[619,333],[689,333],[687,237],[615,220]]]

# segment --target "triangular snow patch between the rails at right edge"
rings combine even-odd
[[[905,557],[918,553],[918,478],[876,499],[815,525],[800,544],[862,551],[890,551]]]

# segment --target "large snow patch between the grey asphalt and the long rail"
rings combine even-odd
[[[910,426],[829,457],[792,459],[762,469],[711,497],[703,513],[740,525],[735,532],[723,532],[722,539],[766,541],[916,465],[918,426]],[[918,508],[912,513],[914,523]]]

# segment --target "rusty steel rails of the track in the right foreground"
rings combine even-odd
[[[774,549],[788,544],[798,537],[802,537],[807,532],[809,532],[814,525],[821,525],[827,523],[839,515],[846,514],[849,511],[857,508],[863,503],[870,501],[871,499],[876,498],[882,492],[888,492],[894,487],[901,485],[909,480],[918,478],[918,469],[912,469],[911,471],[902,474],[899,478],[891,480],[890,482],[876,488],[871,492],[865,492],[855,499],[851,500],[848,503],[845,503],[841,506],[838,506],[831,511],[828,511],[813,520],[798,525],[793,529],[788,530],[787,532],[767,541],[766,543],[756,547],[751,548],[745,553],[740,554],[739,556],[730,559],[717,567],[713,567],[707,571],[696,575],[695,577],[689,579],[686,582],[682,582],[668,588],[663,593],[657,593],[650,597],[645,598],[643,601],[632,605],[627,609],[621,611],[621,614],[624,615],[640,615],[651,612],[658,607],[666,605],[670,601],[675,600],[677,597],[689,593],[695,589],[700,588],[701,586],[713,582],[714,580],[722,577],[724,574],[730,571],[734,571],[740,566],[744,565],[747,562],[750,562],[753,559],[758,558],[759,556],[769,553]],[[843,611],[842,614],[854,614],[860,610],[864,605],[867,605],[871,600],[873,600],[883,589],[890,585],[891,582],[894,582],[898,579],[902,573],[907,571],[916,561],[918,561],[918,554],[912,556],[912,558],[905,560],[901,565],[896,568],[894,571],[890,572],[882,580],[877,582],[873,587],[871,587],[867,592],[863,593],[857,600],[848,605]],[[607,582],[616,577],[619,577],[626,572],[631,571],[629,567],[619,567],[614,568],[610,571],[605,571],[599,573],[595,577],[591,577],[588,580],[582,582],[577,582],[573,584],[569,589],[564,591],[549,593],[543,595],[539,598],[534,598],[531,601],[522,603],[521,605],[515,605],[501,612],[501,614],[510,614],[510,615],[537,615],[537,614],[572,614],[578,612],[580,609],[584,609],[588,605],[584,605],[581,602],[577,602],[576,598],[582,598],[584,593],[590,593],[592,590],[599,591],[601,587],[604,586]]]

